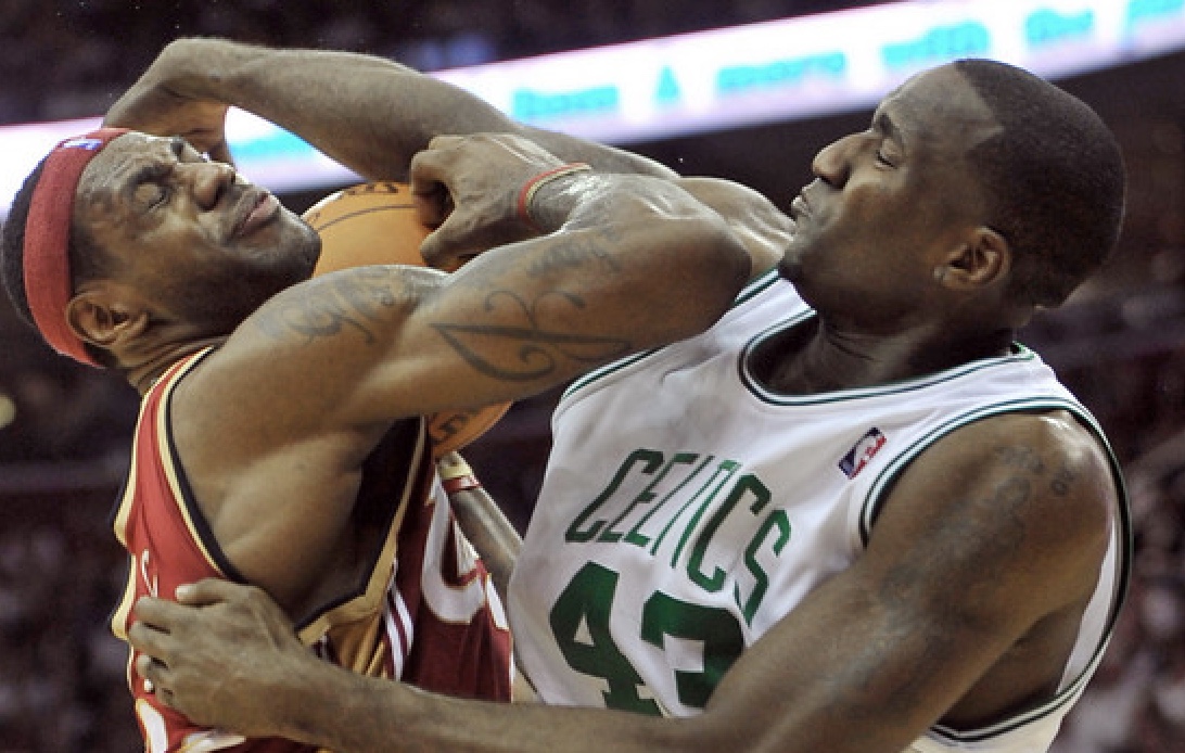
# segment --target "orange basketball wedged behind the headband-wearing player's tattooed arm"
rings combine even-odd
[[[305,221],[321,236],[321,258],[314,275],[365,264],[424,266],[419,244],[430,229],[419,223],[411,191],[396,182],[371,182],[326,197],[305,212]],[[506,414],[510,403],[472,411],[444,411],[429,417],[434,455],[460,450]]]

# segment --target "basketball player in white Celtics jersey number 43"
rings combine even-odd
[[[494,117],[379,60],[200,50],[167,52],[115,120],[139,101],[210,147],[226,104],[319,137],[401,112],[453,131]],[[493,157],[435,142],[412,181],[494,237],[520,178]],[[188,606],[140,601],[140,671],[197,719],[338,751],[1046,749],[1106,646],[1128,528],[1101,431],[1013,334],[1113,247],[1117,146],[1048,83],[961,62],[890,94],[813,169],[793,232],[756,198],[715,197],[755,260],[717,324],[575,381],[557,408],[508,604],[556,706],[334,671],[261,592],[219,581],[182,590]],[[602,180],[565,174],[531,211],[558,243],[550,201]]]

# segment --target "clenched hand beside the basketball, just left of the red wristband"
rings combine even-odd
[[[421,219],[437,227],[421,246],[424,259],[451,271],[482,251],[537,236],[518,214],[518,194],[561,165],[534,142],[508,134],[433,139],[411,161]]]

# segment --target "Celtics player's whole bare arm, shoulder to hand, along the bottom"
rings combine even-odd
[[[265,599],[228,584],[203,584],[188,599],[200,609],[142,601],[153,628],[132,641],[162,662],[140,667],[187,714],[340,751],[896,753],[940,719],[985,722],[1049,697],[1114,496],[1102,450],[1064,414],[960,430],[903,474],[858,564],[747,650],[690,719],[507,708],[353,677],[294,650]],[[210,693],[228,671],[232,697]]]

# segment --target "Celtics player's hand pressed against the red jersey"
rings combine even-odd
[[[139,622],[128,631],[140,654],[135,671],[197,725],[282,734],[284,688],[300,687],[302,672],[321,664],[284,613],[262,590],[225,580],[181,586],[177,599],[136,601]]]

